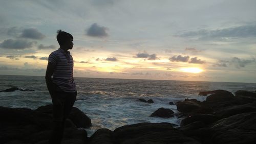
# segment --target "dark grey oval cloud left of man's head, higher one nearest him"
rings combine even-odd
[[[22,34],[20,34],[19,37],[31,38],[31,39],[44,39],[46,36],[40,33],[37,29],[29,28],[29,29],[24,29],[22,31]]]

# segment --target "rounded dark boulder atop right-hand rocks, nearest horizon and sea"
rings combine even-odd
[[[209,101],[230,101],[234,99],[234,95],[226,90],[219,90],[218,92],[209,95],[206,98],[206,102]]]

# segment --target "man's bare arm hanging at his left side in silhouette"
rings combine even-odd
[[[46,85],[51,96],[53,95],[56,87],[55,84],[52,82],[53,71],[54,71],[54,65],[49,62],[46,69]]]

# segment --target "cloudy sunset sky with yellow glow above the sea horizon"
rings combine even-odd
[[[45,76],[56,32],[74,77],[256,82],[255,0],[1,1],[0,74]]]

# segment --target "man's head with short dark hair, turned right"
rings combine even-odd
[[[57,31],[57,41],[60,47],[64,49],[72,49],[73,48],[73,36],[67,32],[58,30]]]

